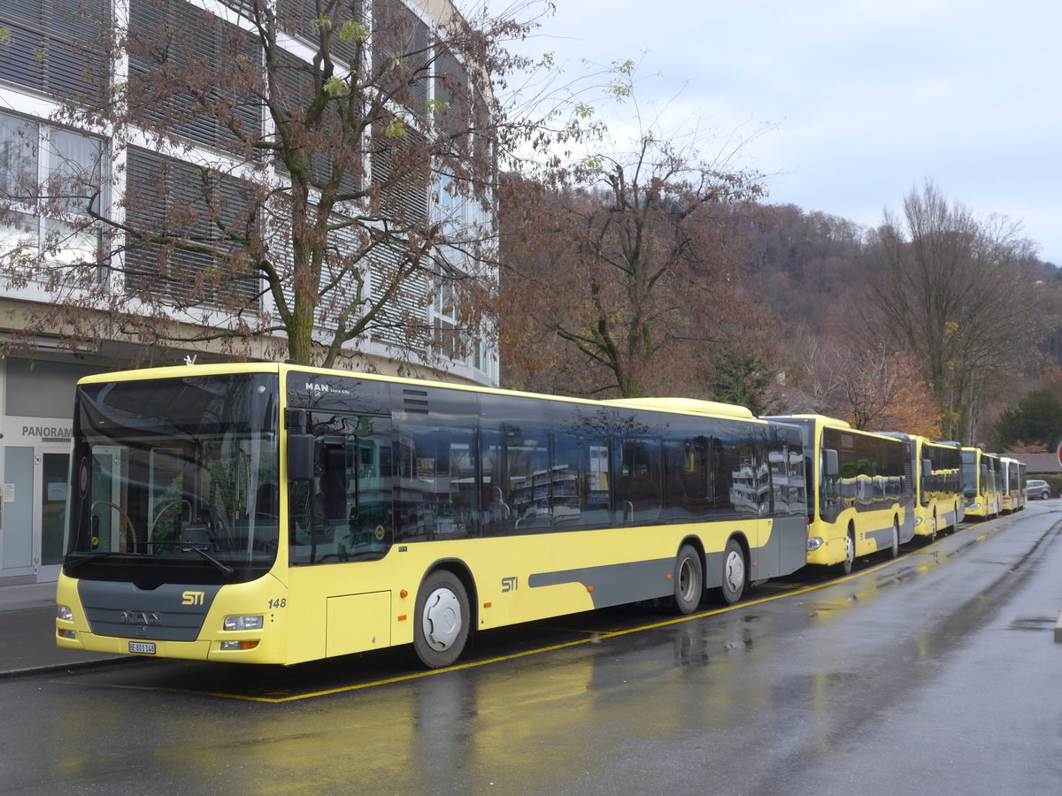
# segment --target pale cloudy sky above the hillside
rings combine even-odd
[[[740,146],[769,202],[871,226],[929,179],[1062,265],[1062,1],[556,4],[529,51],[638,60],[640,102],[721,150],[770,125]]]

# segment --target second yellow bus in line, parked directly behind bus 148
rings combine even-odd
[[[801,430],[808,473],[807,561],[852,572],[857,558],[891,557],[914,536],[907,444],[821,415],[768,418]]]

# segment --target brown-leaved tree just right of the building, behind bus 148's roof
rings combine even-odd
[[[691,392],[698,351],[756,327],[737,208],[755,175],[645,132],[548,181],[502,185],[502,359],[552,390]]]

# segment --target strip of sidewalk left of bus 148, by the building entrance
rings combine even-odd
[[[0,677],[115,660],[55,645],[55,584],[0,586]]]

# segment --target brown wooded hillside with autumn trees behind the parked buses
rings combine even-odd
[[[1059,382],[1062,276],[1006,219],[926,185],[863,228],[744,183],[695,203],[688,180],[644,173],[539,186],[533,205],[526,183],[502,190],[521,208],[503,212],[504,386],[680,394],[991,446],[1005,408]]]

